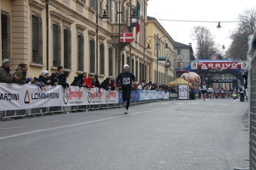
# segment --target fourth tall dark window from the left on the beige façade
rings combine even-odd
[[[71,70],[71,31],[64,29],[64,68]]]

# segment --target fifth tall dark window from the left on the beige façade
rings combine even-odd
[[[78,35],[78,71],[83,72],[83,54],[84,54],[84,38],[83,35]]]

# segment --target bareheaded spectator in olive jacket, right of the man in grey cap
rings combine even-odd
[[[26,79],[27,71],[28,71],[28,65],[24,63],[19,64],[19,66],[15,70],[15,73],[13,73],[13,75],[17,75],[17,77],[19,77],[19,80],[15,81],[15,83],[26,84],[32,81],[33,77],[28,77]]]

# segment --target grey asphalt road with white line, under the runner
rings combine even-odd
[[[248,102],[176,100],[0,121],[1,169],[249,167]]]

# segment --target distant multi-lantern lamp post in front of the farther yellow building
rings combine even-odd
[[[168,43],[171,41],[170,40],[170,38],[168,37],[168,36],[166,36],[166,35],[164,35],[164,36],[161,36],[160,38],[159,38],[159,35],[157,34],[157,38],[155,38],[154,36],[148,36],[148,37],[146,37],[146,43],[148,43],[148,47],[146,47],[146,49],[147,50],[150,50],[151,49],[151,47],[150,47],[150,43],[151,43],[151,39],[153,38],[153,39],[155,39],[155,46],[157,47],[157,82],[156,82],[156,84],[158,84],[158,50],[159,50],[159,46],[160,46],[160,40],[162,40],[162,38],[168,38],[168,41],[165,41],[165,43],[166,43],[166,46],[164,47],[165,49],[166,49],[166,51],[169,49],[169,46],[168,46]],[[149,39],[149,40],[148,40]],[[148,40],[148,41],[147,41]]]

